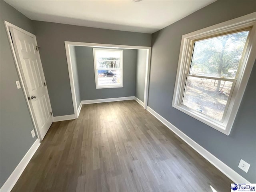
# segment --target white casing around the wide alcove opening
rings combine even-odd
[[[146,71],[145,71],[145,74],[146,74],[145,75],[145,89],[144,89],[144,105],[143,105],[144,109],[147,109],[147,107],[148,107],[148,87],[149,87],[150,61],[151,61],[151,47],[65,41],[66,56],[67,56],[67,62],[68,62],[68,74],[69,74],[69,80],[70,80],[70,87],[71,87],[71,93],[72,93],[72,100],[73,100],[75,118],[78,118],[78,113],[79,112],[78,112],[77,102],[76,102],[74,76],[73,76],[72,62],[71,62],[71,57],[70,57],[70,46],[147,50]]]

